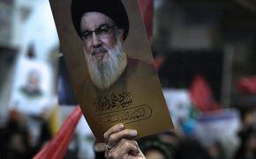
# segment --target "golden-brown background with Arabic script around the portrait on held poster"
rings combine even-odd
[[[137,0],[122,1],[130,23],[123,47],[134,59],[128,62],[132,67],[108,90],[97,90],[89,79],[83,43],[72,25],[72,1],[49,2],[75,95],[97,141],[103,141],[103,133],[120,122],[137,129],[139,137],[172,128]]]

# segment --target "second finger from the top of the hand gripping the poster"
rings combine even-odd
[[[121,139],[133,139],[137,136],[137,130],[124,129],[115,134],[110,134],[107,144],[114,147]]]

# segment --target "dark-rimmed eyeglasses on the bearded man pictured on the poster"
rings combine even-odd
[[[100,25],[97,29],[94,31],[84,31],[81,33],[81,38],[85,42],[89,42],[93,40],[93,33],[97,35],[98,38],[103,39],[106,38],[109,35],[109,31],[114,27],[115,25]]]

